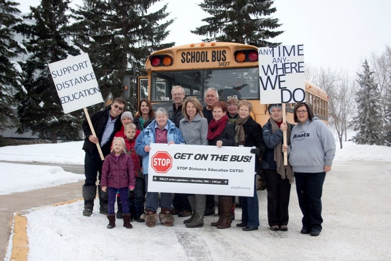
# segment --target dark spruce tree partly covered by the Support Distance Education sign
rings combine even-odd
[[[27,94],[19,93],[18,107],[21,127],[19,132],[31,130],[41,139],[56,143],[58,138],[66,141],[79,139],[81,129],[80,111],[64,114],[47,64],[80,54],[72,47],[65,30],[69,23],[66,12],[69,0],[42,0],[41,5],[31,8],[27,19],[32,23],[21,26],[26,36],[25,46],[29,58],[23,66],[27,73]]]

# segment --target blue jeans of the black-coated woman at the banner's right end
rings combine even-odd
[[[254,175],[254,195],[252,197],[239,197],[241,199],[241,222],[251,227],[260,226],[256,178],[257,175]]]

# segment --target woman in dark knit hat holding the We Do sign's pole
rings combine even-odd
[[[262,172],[267,190],[267,221],[273,231],[288,231],[290,187],[294,181],[291,166],[284,165],[283,132],[289,145],[293,124],[282,122],[282,104],[270,104],[270,119],[262,127],[266,151],[262,157]]]

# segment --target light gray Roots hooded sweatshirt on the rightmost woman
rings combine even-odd
[[[334,159],[335,140],[326,124],[314,117],[292,128],[288,153],[294,172],[324,172]]]

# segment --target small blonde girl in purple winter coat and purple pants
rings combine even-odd
[[[125,140],[117,137],[113,140],[111,153],[105,157],[102,166],[101,188],[109,194],[109,225],[107,228],[115,227],[114,204],[117,191],[122,199],[122,216],[124,227],[132,228],[130,224],[128,188],[134,190],[136,178],[134,176],[134,165],[130,155],[125,152]]]

